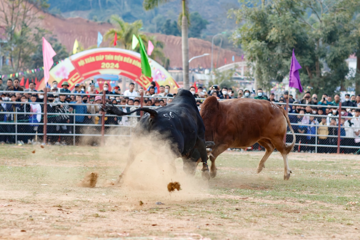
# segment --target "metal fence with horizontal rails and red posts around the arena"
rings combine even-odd
[[[5,92],[44,94],[43,92]],[[58,95],[59,93],[48,93]],[[90,95],[105,98],[124,97],[124,95],[105,95],[103,94],[79,94],[69,95]],[[152,97],[137,96],[140,98],[140,105],[116,105],[122,110],[132,111],[136,108],[157,108],[143,106],[143,98],[172,99],[171,97]],[[204,100],[204,99],[197,99]],[[44,142],[51,144],[87,144],[100,145],[106,138],[117,137],[127,139],[131,136],[132,129],[139,121],[140,113],[132,113],[129,116],[114,116],[99,112],[96,103],[44,103],[44,102],[19,102],[0,100],[0,142],[13,144],[26,144]],[[39,105],[35,105],[39,104]],[[359,120],[356,117],[339,116],[341,115],[340,106],[325,105],[305,105],[276,103],[285,109],[305,108],[329,108],[337,109],[334,116],[318,115],[312,113],[289,112],[291,126],[296,135],[296,151],[314,153],[359,153],[360,137],[356,132],[360,130]],[[78,106],[82,107],[79,108]],[[86,111],[85,108],[86,107]],[[41,112],[39,112],[39,107]],[[46,107],[46,108],[45,108]],[[44,108],[46,109],[44,111]],[[346,107],[347,110],[359,109]],[[66,112],[64,110],[68,109]],[[81,111],[79,112],[80,109]],[[308,108],[309,109],[309,108]],[[38,112],[36,112],[37,110]],[[69,111],[71,110],[71,111]],[[313,109],[312,109],[313,110]],[[306,110],[304,109],[306,112]],[[346,111],[346,110],[345,110]],[[346,114],[347,115],[347,111]],[[359,117],[360,118],[360,117]],[[45,121],[44,121],[45,119]],[[343,120],[341,120],[343,119]],[[323,123],[321,123],[323,122]],[[287,135],[284,137],[287,143],[291,143],[293,136],[288,128]],[[255,144],[246,150],[265,150],[262,146]]]

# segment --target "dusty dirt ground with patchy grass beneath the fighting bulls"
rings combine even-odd
[[[0,146],[0,239],[360,239],[359,155],[291,153],[284,181],[278,153],[256,174],[264,152],[227,151],[207,182],[147,153],[113,187],[126,152]]]

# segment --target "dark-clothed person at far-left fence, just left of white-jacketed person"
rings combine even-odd
[[[27,128],[29,125],[23,125],[21,123],[29,122],[29,113],[30,113],[30,104],[27,104],[28,99],[26,96],[21,96],[21,104],[17,104],[17,132],[18,133],[27,133]],[[25,142],[28,143],[28,135],[18,135],[18,145],[24,145]]]

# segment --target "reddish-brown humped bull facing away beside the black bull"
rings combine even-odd
[[[245,149],[258,142],[266,151],[257,166],[257,173],[265,168],[265,162],[276,148],[285,165],[284,180],[291,170],[288,153],[295,144],[295,134],[285,109],[267,100],[228,99],[217,101],[214,96],[204,100],[200,115],[205,125],[205,140],[215,142],[212,147],[211,177],[216,176],[215,159],[228,148]],[[293,142],[283,141],[287,124],[293,135]]]

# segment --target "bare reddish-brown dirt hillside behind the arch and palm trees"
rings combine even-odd
[[[96,45],[98,31],[103,35],[105,32],[112,28],[109,23],[93,22],[84,18],[57,18],[53,15],[43,13],[44,20],[42,21],[42,27],[52,31],[59,41],[66,46],[70,52],[72,50],[75,39],[82,44],[85,49],[89,46]],[[181,67],[181,37],[175,37],[172,35],[163,35],[159,33],[147,33],[148,35],[156,36],[157,40],[164,43],[164,53],[170,59],[171,67]],[[103,47],[108,46],[108,43],[103,42]],[[214,47],[214,65],[216,62],[219,47]],[[189,58],[193,56],[202,55],[204,53],[211,54],[211,42],[204,41],[196,38],[189,38]],[[241,57],[237,56],[234,51],[221,49],[219,56],[220,67],[224,65],[224,59],[227,63],[231,62],[232,56],[235,55],[235,62],[241,61]],[[205,67],[210,68],[211,55],[202,58],[194,59],[190,63],[190,68]]]

